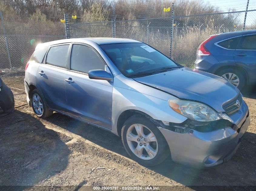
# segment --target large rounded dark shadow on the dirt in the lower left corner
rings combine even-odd
[[[22,111],[1,117],[0,186],[33,186],[64,170],[70,150],[53,130]],[[10,187],[8,187],[10,188]]]

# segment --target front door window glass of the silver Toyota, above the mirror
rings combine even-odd
[[[105,69],[105,64],[93,49],[74,44],[71,53],[71,70],[88,73],[93,69]]]

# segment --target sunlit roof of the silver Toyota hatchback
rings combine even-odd
[[[125,38],[71,38],[71,39],[63,39],[63,40],[55,40],[47,43],[41,43],[36,46],[35,49],[42,48],[45,46],[52,46],[56,44],[62,43],[86,43],[86,44],[115,44],[115,43],[141,43],[138,40],[133,39],[125,39]]]

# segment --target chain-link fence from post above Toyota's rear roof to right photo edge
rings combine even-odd
[[[69,23],[70,37],[130,38],[147,43],[187,67],[198,46],[212,34],[243,30],[245,11],[95,23]],[[115,15],[113,15],[115,18]],[[256,10],[247,13],[244,30],[256,29]],[[172,33],[171,33],[172,32]],[[171,38],[172,37],[172,38]]]

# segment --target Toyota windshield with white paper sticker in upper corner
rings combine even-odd
[[[108,57],[128,78],[166,72],[180,65],[144,43],[101,45]]]

